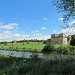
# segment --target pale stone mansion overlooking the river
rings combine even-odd
[[[52,34],[51,35],[51,41],[54,44],[70,44],[71,35],[67,36],[63,33],[61,33],[61,34]]]

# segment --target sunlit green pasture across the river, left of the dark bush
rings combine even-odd
[[[0,44],[0,49],[17,50],[17,51],[41,52],[43,47],[44,47],[44,44],[42,42],[23,42],[23,43]]]

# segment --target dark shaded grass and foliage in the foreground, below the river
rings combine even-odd
[[[65,66],[64,66],[65,65]],[[74,75],[75,59],[44,60],[0,57],[0,75]]]

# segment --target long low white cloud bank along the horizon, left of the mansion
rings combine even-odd
[[[49,39],[50,35],[43,35],[41,33],[22,34],[22,33],[13,33],[13,31],[3,31],[0,33],[0,41],[13,41],[13,40],[29,40],[29,39],[38,39],[46,40]]]

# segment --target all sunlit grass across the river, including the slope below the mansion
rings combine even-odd
[[[44,49],[45,44],[43,42],[21,42],[21,43],[0,43],[0,50],[13,50],[13,51],[23,51],[23,52],[42,52]],[[67,44],[55,44],[55,50],[53,52],[67,52],[67,53],[74,53],[75,47],[71,47]],[[46,49],[47,50],[47,49]]]

